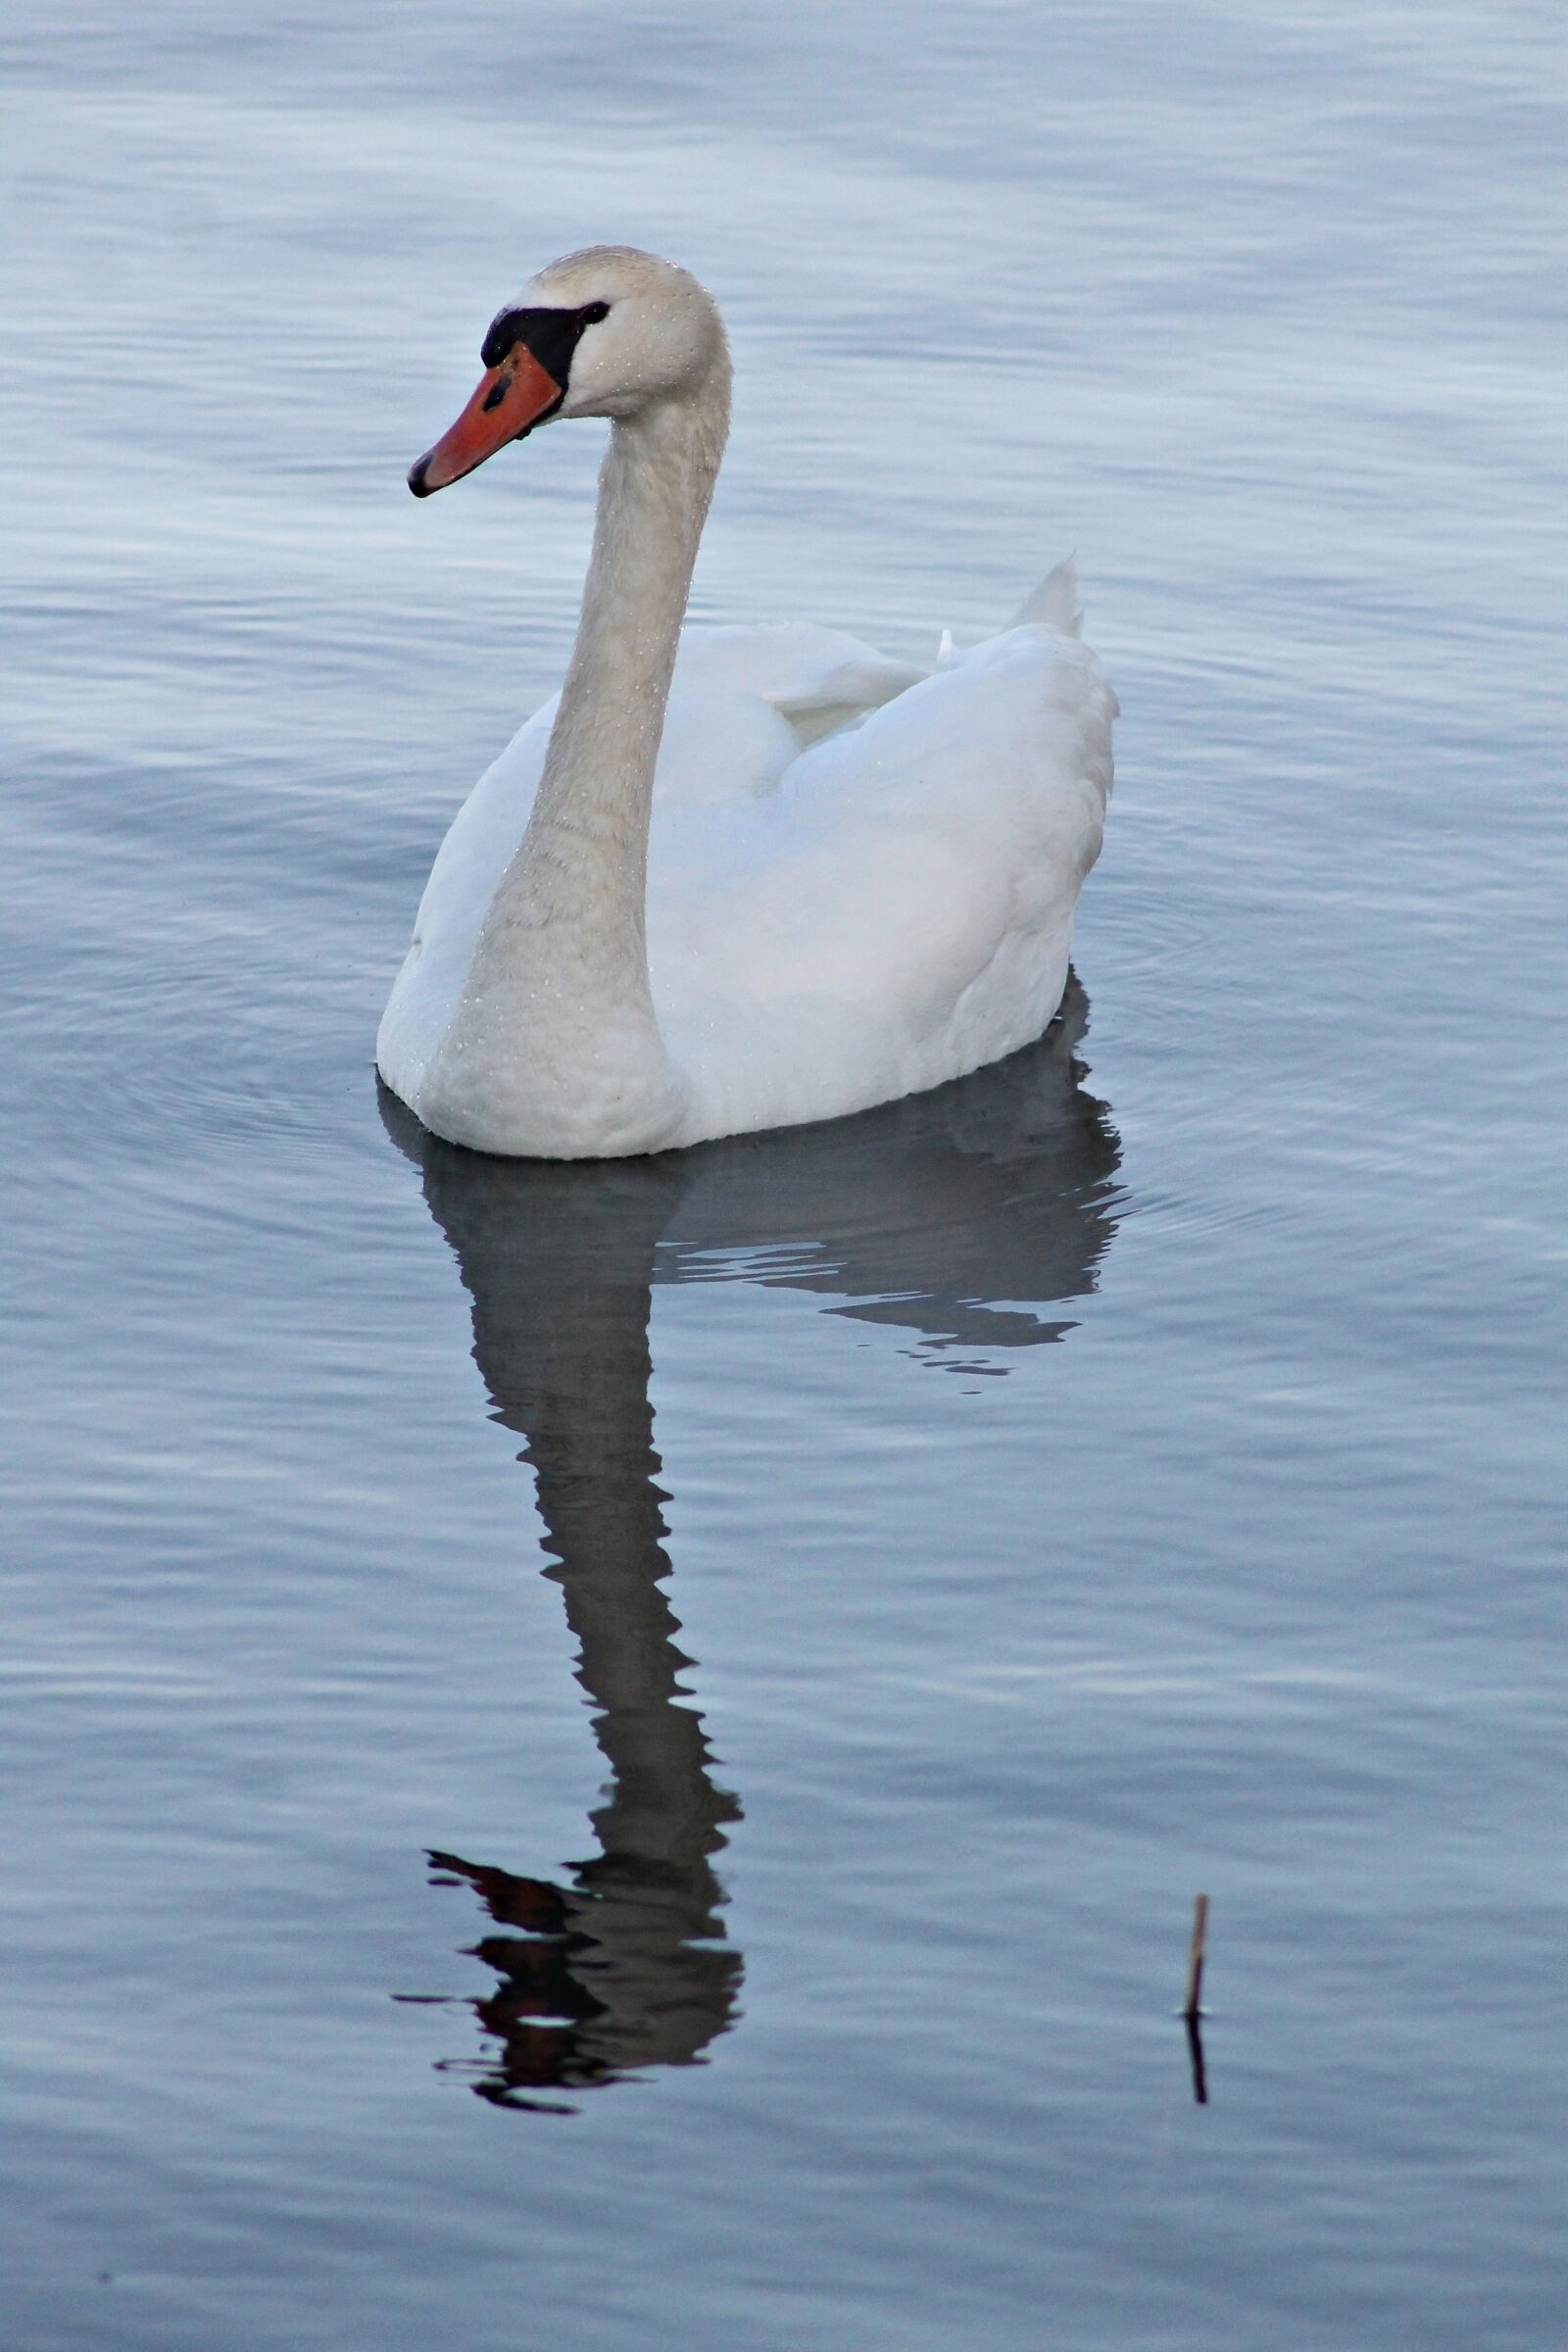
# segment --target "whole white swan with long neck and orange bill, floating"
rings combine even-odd
[[[550,416],[614,423],[567,682],[442,842],[388,1087],[451,1143],[618,1157],[863,1110],[1037,1037],[1112,774],[1072,569],[933,675],[830,628],[682,633],[729,428],[712,299],[595,247],[482,355],[416,496]]]

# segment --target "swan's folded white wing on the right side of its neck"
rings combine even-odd
[[[675,866],[651,854],[689,1141],[835,1117],[1039,1035],[1100,851],[1112,715],[1095,656],[1030,621],[712,809]]]

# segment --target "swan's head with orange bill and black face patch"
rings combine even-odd
[[[461,480],[510,440],[557,416],[630,421],[729,390],[729,346],[712,294],[691,270],[635,245],[590,245],[552,261],[496,310],[484,374],[456,423],[409,468],[409,489]]]

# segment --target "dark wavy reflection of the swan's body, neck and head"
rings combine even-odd
[[[741,1806],[682,1703],[693,1661],[663,1592],[654,1284],[818,1291],[969,1374],[1063,1338],[1072,1322],[1041,1310],[1093,1291],[1117,1221],[1117,1138],[1074,1061],[1084,1023],[1070,983],[1046,1037],[976,1077],[661,1160],[489,1160],[440,1143],[383,1089],[473,1298],[494,1418],[538,1479],[548,1573],[609,1764],[599,1851],[571,1884],[430,1851],[435,1884],[473,1889],[501,1931],[470,1947],[498,1978],[465,2004],[496,2044],[468,2065],[482,2098],[545,2107],[550,2089],[691,2065],[736,2013],[741,1955],[719,1940],[712,1856]]]

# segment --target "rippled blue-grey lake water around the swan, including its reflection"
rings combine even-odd
[[[1561,2340],[1566,56],[12,12],[7,2347]],[[1124,720],[1037,1049],[562,1171],[371,1040],[599,433],[402,470],[595,238],[701,616],[1077,548]]]

